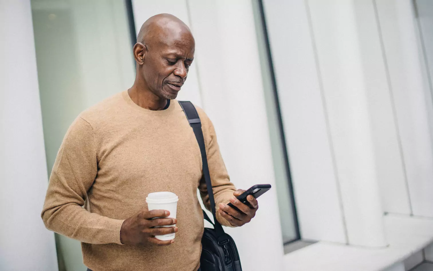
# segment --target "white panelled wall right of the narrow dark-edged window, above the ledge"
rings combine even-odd
[[[415,2],[264,1],[303,238],[383,246],[384,211],[432,216],[432,5]]]

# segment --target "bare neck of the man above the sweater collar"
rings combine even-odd
[[[167,99],[162,99],[150,90],[138,88],[136,84],[128,89],[129,97],[136,105],[150,110],[163,110],[167,105]]]

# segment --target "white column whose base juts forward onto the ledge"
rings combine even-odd
[[[379,181],[401,163],[390,155],[399,153],[374,6],[310,0],[308,7],[349,244],[385,246]]]

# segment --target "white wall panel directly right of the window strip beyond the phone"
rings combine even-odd
[[[346,243],[304,0],[265,0],[263,5],[301,236]]]

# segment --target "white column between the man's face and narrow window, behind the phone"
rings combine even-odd
[[[283,243],[252,3],[188,0],[188,4],[203,105],[215,125],[231,180],[243,189],[259,183],[274,187],[259,198],[260,208],[251,223],[226,230],[236,240],[244,270],[283,270]]]

